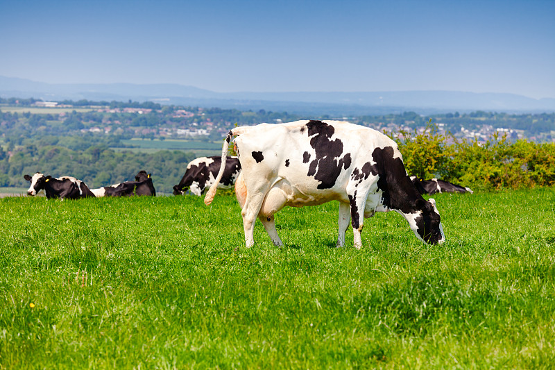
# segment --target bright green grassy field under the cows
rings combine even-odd
[[[232,196],[0,199],[0,368],[555,367],[555,190],[434,198],[445,244],[390,212],[360,251],[336,203],[246,249]]]

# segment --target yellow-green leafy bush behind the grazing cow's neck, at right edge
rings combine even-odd
[[[423,133],[402,131],[395,137],[411,176],[441,178],[474,190],[522,189],[555,183],[555,144],[506,136],[457,140],[429,124]]]

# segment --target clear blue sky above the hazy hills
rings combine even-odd
[[[0,0],[0,75],[555,98],[555,0]]]

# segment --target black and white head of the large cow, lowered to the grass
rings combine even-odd
[[[413,222],[409,221],[409,224],[411,224],[411,229],[416,236],[429,244],[445,242],[445,234],[441,225],[441,217],[436,208],[436,201],[432,198],[428,201],[417,199],[415,207],[416,215],[413,217]]]

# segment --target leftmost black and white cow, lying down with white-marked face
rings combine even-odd
[[[25,180],[31,181],[31,187],[27,190],[28,195],[37,195],[38,192],[44,190],[46,198],[60,199],[79,199],[93,196],[87,184],[81,180],[77,180],[71,176],[62,176],[53,178],[52,176],[44,176],[37,172],[33,177],[29,175],[23,176]]]

